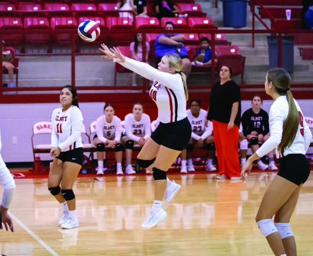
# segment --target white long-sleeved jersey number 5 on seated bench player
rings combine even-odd
[[[112,121],[108,123],[105,115],[97,119],[97,136],[98,139],[105,143],[107,139],[120,142],[122,133],[122,121],[120,118],[113,116]]]

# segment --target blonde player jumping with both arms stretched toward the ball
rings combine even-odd
[[[186,100],[188,91],[186,77],[182,73],[182,60],[177,54],[166,54],[158,69],[147,63],[125,57],[119,49],[108,49],[102,44],[100,51],[105,58],[153,81],[150,98],[158,106],[160,125],[143,145],[137,156],[139,166],[152,171],[155,180],[154,204],[149,217],[141,225],[148,229],[163,220],[167,213],[163,204],[173,199],[180,185],[167,178],[166,172],[186,147],[191,136],[191,125],[187,119]]]

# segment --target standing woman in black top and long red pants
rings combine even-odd
[[[240,180],[238,136],[241,115],[240,89],[231,80],[232,69],[222,66],[221,81],[212,88],[207,119],[213,122],[218,179]]]

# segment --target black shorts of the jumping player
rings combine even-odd
[[[151,139],[159,145],[182,151],[191,137],[191,125],[187,118],[174,123],[161,123],[152,132]]]

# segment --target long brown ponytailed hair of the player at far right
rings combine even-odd
[[[271,82],[273,84],[273,87],[275,87],[280,95],[286,95],[289,105],[288,116],[283,125],[282,141],[278,145],[279,152],[283,154],[285,149],[290,147],[296,137],[299,126],[298,109],[290,91],[290,75],[285,69],[272,68],[268,70],[267,81],[267,83]]]

